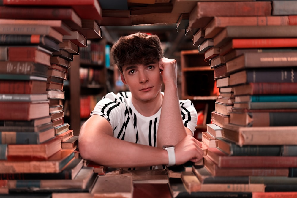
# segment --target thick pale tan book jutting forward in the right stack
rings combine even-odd
[[[222,137],[239,146],[294,145],[296,143],[296,126],[245,127],[228,123],[224,124],[223,128]]]

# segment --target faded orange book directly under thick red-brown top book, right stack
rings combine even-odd
[[[213,38],[227,26],[290,25],[288,16],[214,16],[207,24],[205,38]],[[292,24],[293,25],[293,24]]]

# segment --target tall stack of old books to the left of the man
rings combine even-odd
[[[0,194],[88,194],[98,174],[64,123],[63,86],[79,48],[101,38],[98,1],[1,3]]]

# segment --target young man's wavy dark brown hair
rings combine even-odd
[[[124,65],[159,61],[163,55],[159,37],[140,32],[120,37],[111,47],[111,56],[121,73]]]

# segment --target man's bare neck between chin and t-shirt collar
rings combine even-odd
[[[154,99],[148,101],[139,101],[132,97],[133,106],[141,115],[145,117],[149,117],[157,113],[162,106],[162,102],[163,95],[161,92],[159,92],[159,94],[157,94]]]

